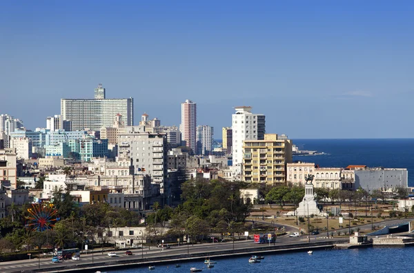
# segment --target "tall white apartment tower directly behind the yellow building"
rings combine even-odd
[[[232,115],[233,166],[243,163],[243,141],[264,140],[266,121],[264,114],[253,114],[250,106],[235,107]]]

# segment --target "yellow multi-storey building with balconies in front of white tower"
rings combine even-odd
[[[277,134],[265,134],[264,140],[243,141],[243,181],[286,183],[286,163],[290,162],[290,139],[277,139]]]

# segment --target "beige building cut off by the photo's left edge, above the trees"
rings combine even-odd
[[[17,185],[17,154],[14,149],[0,150],[0,181],[10,181],[12,188]]]

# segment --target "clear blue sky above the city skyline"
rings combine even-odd
[[[286,3],[285,3],[286,2]],[[0,114],[46,126],[61,98],[133,97],[215,138],[233,106],[304,138],[413,137],[412,1],[1,1]]]

